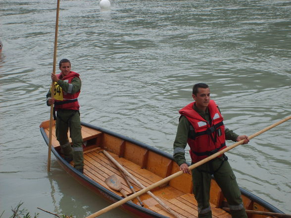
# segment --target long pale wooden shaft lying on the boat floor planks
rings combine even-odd
[[[128,173],[127,170],[125,170],[124,167],[121,166],[107,151],[103,150],[103,154],[110,160],[112,163],[115,164],[116,167],[118,167],[124,174],[126,174],[128,177],[130,177],[137,185],[139,185],[142,188],[145,188],[145,186],[136,179],[132,174]],[[172,214],[176,218],[180,218],[181,216],[177,214],[175,211],[173,211],[168,205],[166,205],[164,202],[162,202],[157,196],[152,194],[150,191],[146,192],[148,195],[150,195],[154,200],[156,200],[167,212]]]

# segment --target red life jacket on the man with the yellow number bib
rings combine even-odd
[[[67,76],[64,76],[62,78],[61,78],[61,73],[56,76],[60,80],[65,81],[70,84],[75,77],[79,78],[80,75],[76,72],[70,71],[70,73]],[[54,108],[56,111],[59,109],[79,110],[80,104],[78,102],[78,96],[80,94],[80,90],[74,94],[70,94],[70,93],[65,92],[60,86],[56,85],[54,87],[54,94],[57,94],[57,92],[62,92],[63,100],[55,99]]]

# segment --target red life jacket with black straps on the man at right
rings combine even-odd
[[[209,101],[208,112],[211,118],[209,123],[194,110],[193,106],[194,102],[182,108],[179,113],[191,123],[188,144],[191,148],[192,162],[196,163],[226,148],[226,145],[223,117],[215,101]]]

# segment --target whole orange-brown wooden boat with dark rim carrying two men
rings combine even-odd
[[[41,133],[48,144],[49,121],[40,125]],[[110,188],[105,180],[116,175],[121,182],[122,192],[127,196],[133,194],[132,189],[112,162],[102,153],[106,150],[118,163],[130,174],[137,178],[144,186],[149,186],[162,178],[179,171],[178,165],[173,161],[172,155],[150,147],[144,143],[126,136],[104,130],[86,123],[82,123],[83,147],[84,147],[84,174],[76,171],[72,163],[67,163],[60,153],[60,146],[52,128],[52,153],[55,155],[63,169],[80,183],[103,196],[109,202],[114,203],[123,198],[120,191]],[[135,191],[141,187],[131,181]],[[192,194],[192,178],[189,174],[182,174],[170,180],[168,183],[151,190],[181,218],[196,218],[197,203]],[[246,210],[283,213],[266,201],[241,189],[243,204]],[[228,207],[227,202],[214,179],[211,182],[211,208],[214,218],[231,218],[231,215],[222,208]],[[137,199],[123,204],[121,208],[139,218],[174,218],[161,207],[147,193],[140,196],[144,207]],[[248,214],[248,218],[270,218],[269,215]]]

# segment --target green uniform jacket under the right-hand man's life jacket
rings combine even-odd
[[[207,122],[209,121],[209,113],[208,113],[208,108],[206,111],[199,110],[195,105],[194,105],[194,110]],[[219,110],[219,108],[218,108]],[[219,110],[220,111],[220,110]],[[185,147],[187,146],[187,141],[188,141],[188,135],[190,131],[190,122],[185,116],[181,116],[179,125],[178,125],[178,130],[176,134],[176,138],[174,141],[174,160],[175,162],[180,166],[181,164],[186,163],[185,159]],[[225,128],[225,139],[226,140],[233,140],[236,141],[237,137],[239,135],[234,133],[233,131]],[[181,152],[181,150],[184,150],[184,152]]]

